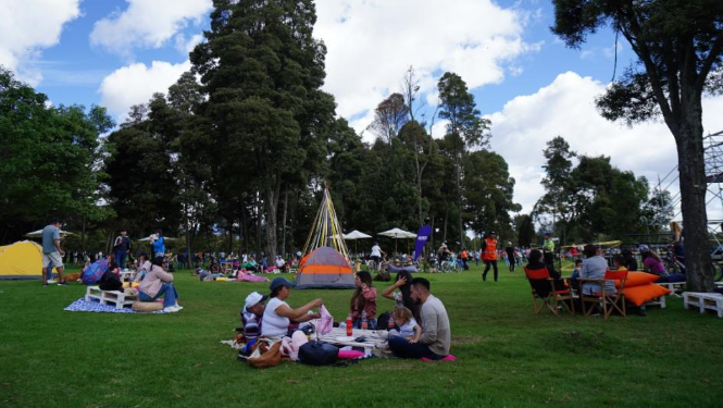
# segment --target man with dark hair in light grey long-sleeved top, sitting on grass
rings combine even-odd
[[[421,305],[422,336],[419,343],[401,336],[389,337],[389,348],[401,358],[428,358],[440,360],[449,355],[451,331],[445,305],[429,293],[429,281],[424,277],[412,280],[412,300]]]

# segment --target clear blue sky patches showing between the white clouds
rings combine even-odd
[[[566,48],[550,32],[553,23],[553,9],[548,1],[499,1],[502,8],[516,7],[531,13],[539,13],[531,18],[523,38],[531,44],[540,44],[539,51],[522,55],[515,61],[524,71],[519,75],[508,75],[504,81],[473,89],[483,113],[495,112],[510,99],[519,95],[534,92],[551,83],[565,71],[581,76],[591,76],[600,82],[610,79],[613,60],[604,52],[612,50],[614,34],[608,29],[590,37],[582,50]],[[442,3],[440,2],[440,5]],[[100,103],[99,87],[102,79],[119,67],[132,62],[150,65],[152,61],[182,63],[185,52],[176,49],[173,40],[159,48],[137,48],[132,58],[113,53],[102,46],[91,46],[90,34],[94,24],[114,13],[127,10],[125,0],[86,0],[79,3],[83,15],[63,26],[59,44],[42,50],[33,65],[42,74],[37,89],[47,94],[54,103]],[[188,24],[178,34],[186,38],[208,28],[208,13],[200,24]],[[623,41],[621,41],[623,42]],[[627,51],[627,52],[625,52]],[[591,53],[591,54],[590,54]],[[629,50],[621,51],[619,69],[629,61]],[[370,107],[370,108],[373,108]]]

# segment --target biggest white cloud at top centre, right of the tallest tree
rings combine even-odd
[[[500,83],[518,55],[539,49],[522,39],[528,12],[502,9],[489,0],[316,4],[314,33],[328,48],[325,89],[334,94],[337,112],[346,118],[374,109],[398,91],[410,65],[425,94],[434,91],[445,71],[461,75],[473,89]]]

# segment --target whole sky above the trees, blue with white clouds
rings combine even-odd
[[[558,135],[649,180],[676,164],[662,123],[626,127],[595,109],[612,76],[614,34],[602,29],[582,49],[566,48],[549,29],[548,0],[317,0],[316,9],[315,36],[328,48],[325,89],[339,115],[364,132],[410,65],[431,114],[438,77],[460,74],[493,121],[491,149],[509,163],[524,211],[544,193],[541,151]],[[187,49],[210,11],[211,0],[3,0],[0,64],[55,104],[101,104],[122,121],[130,104],[166,91],[188,70]],[[621,39],[618,73],[633,61]],[[722,109],[723,98],[705,101],[707,131],[723,129],[714,114]],[[444,126],[437,122],[433,135]]]

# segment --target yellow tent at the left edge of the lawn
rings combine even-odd
[[[0,280],[42,277],[42,247],[23,240],[0,247]]]

